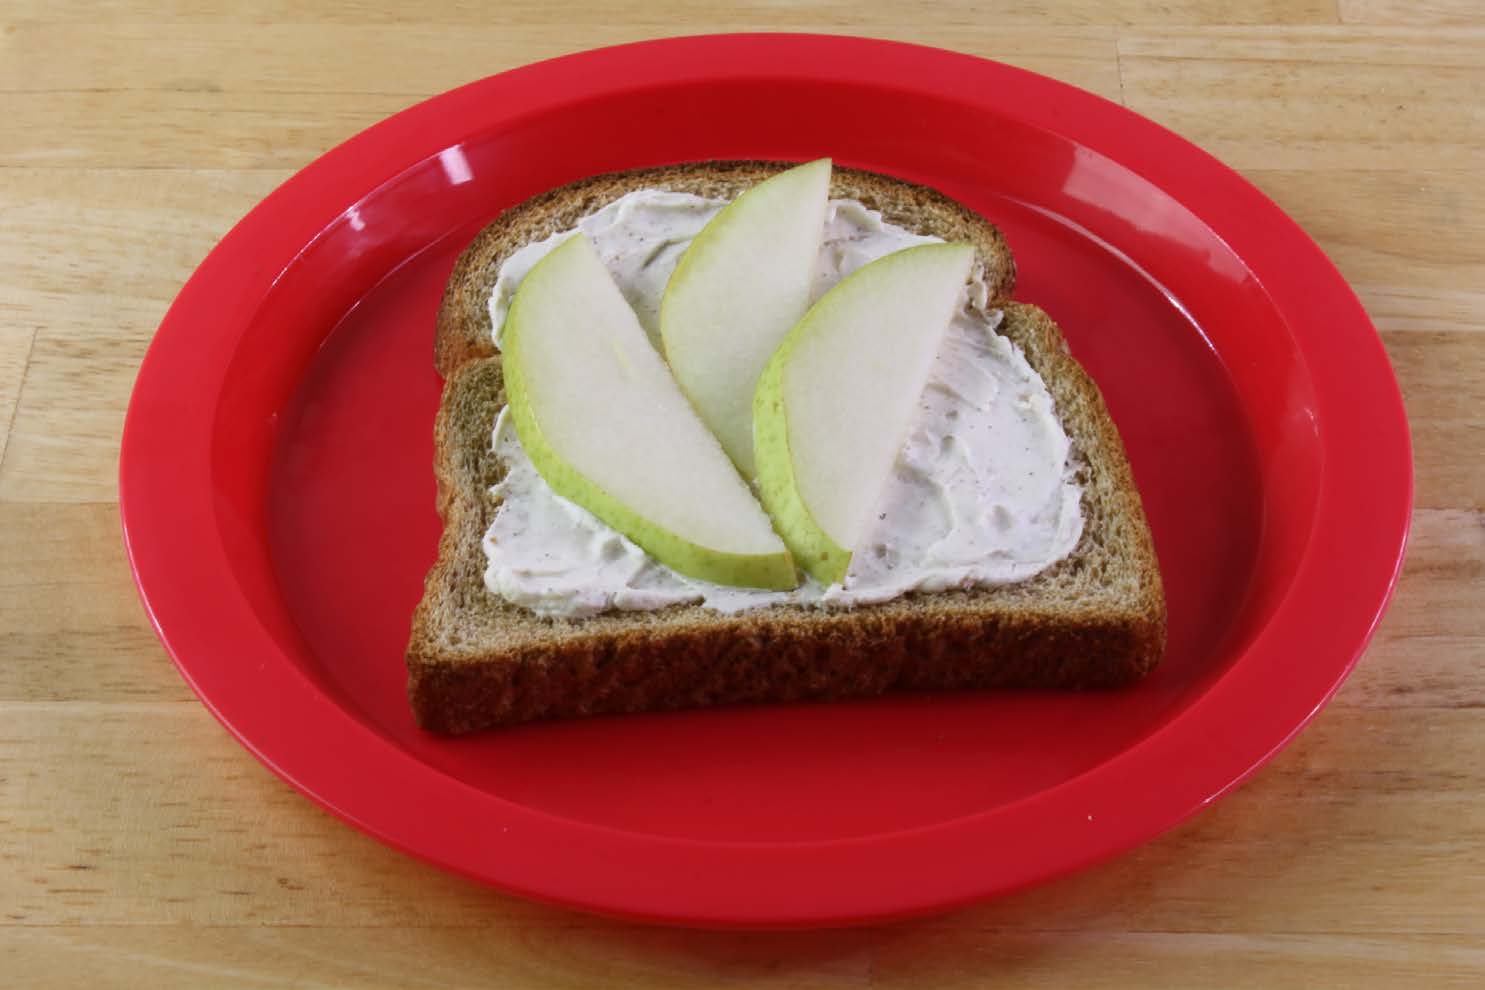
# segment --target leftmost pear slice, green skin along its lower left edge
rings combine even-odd
[[[515,435],[557,494],[688,577],[797,585],[768,515],[585,236],[521,282],[502,350]]]

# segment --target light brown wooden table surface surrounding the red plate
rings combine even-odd
[[[1479,0],[212,6],[0,7],[0,984],[1485,986]],[[1295,745],[1112,864],[869,931],[621,925],[380,846],[192,698],[119,542],[150,334],[293,171],[532,59],[765,27],[1004,59],[1203,144],[1360,292],[1417,442],[1396,601]]]

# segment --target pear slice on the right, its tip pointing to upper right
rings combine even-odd
[[[827,585],[851,566],[973,263],[964,243],[872,261],[805,313],[759,378],[759,493],[796,563]]]

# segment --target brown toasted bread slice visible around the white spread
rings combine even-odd
[[[852,609],[722,614],[674,606],[584,619],[536,616],[486,589],[481,539],[497,509],[490,487],[502,475],[490,438],[505,405],[486,303],[503,257],[631,189],[731,196],[777,168],[701,163],[578,183],[506,212],[460,258],[437,346],[447,374],[435,426],[444,534],[407,649],[422,727],[463,733],[533,718],[887,690],[1111,687],[1160,660],[1164,592],[1123,441],[1056,324],[1017,303],[1001,304],[999,332],[1047,383],[1083,487],[1077,548],[1035,577]],[[983,218],[922,187],[838,172],[832,194],[858,197],[910,230],[974,243],[992,295],[1010,289],[1010,252]]]

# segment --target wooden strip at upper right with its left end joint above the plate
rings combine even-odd
[[[1244,168],[1479,169],[1475,30],[1132,30],[1124,101]]]

